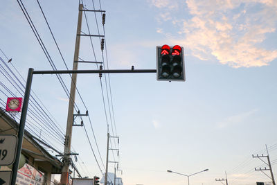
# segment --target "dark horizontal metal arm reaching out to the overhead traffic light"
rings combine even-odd
[[[113,70],[57,70],[33,71],[33,74],[72,74],[72,73],[157,73],[157,69],[113,69]]]

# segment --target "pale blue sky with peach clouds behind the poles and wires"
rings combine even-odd
[[[83,33],[105,32],[105,67],[156,69],[156,46],[163,44],[183,46],[186,66],[186,82],[157,81],[155,73],[122,73],[103,75],[101,89],[97,74],[78,75],[77,87],[87,108],[79,96],[76,105],[81,114],[89,110],[99,149],[85,116],[91,147],[83,127],[73,127],[72,136],[73,150],[79,153],[76,164],[83,176],[102,177],[91,148],[103,170],[100,156],[105,163],[107,125],[112,135],[120,137],[119,146],[114,139],[110,146],[119,148],[119,159],[110,150],[109,161],[119,161],[123,173],[117,173],[125,185],[187,184],[185,176],[167,170],[191,175],[207,168],[207,172],[190,177],[190,184],[220,184],[215,179],[226,178],[225,172],[231,185],[270,182],[254,170],[265,165],[252,157],[267,155],[266,144],[277,175],[276,0],[83,2],[87,9],[93,9],[94,3],[96,10],[106,11],[105,30],[99,12],[96,16],[87,12],[89,30],[84,15],[82,21]],[[23,3],[55,66],[66,69],[37,1]],[[78,1],[39,3],[71,69]],[[52,70],[17,1],[1,1],[0,23],[0,49],[12,58],[12,65],[25,80],[30,67]],[[91,41],[95,55],[89,37],[82,37],[80,58],[102,61],[99,38]],[[3,53],[0,56],[7,62]],[[78,69],[97,68],[80,63]],[[69,88],[71,78],[62,78]],[[0,81],[21,96],[2,74]],[[57,77],[35,75],[32,89],[65,132],[69,98]],[[6,101],[3,93],[0,98]],[[76,123],[80,124],[80,119]],[[46,132],[42,135],[48,137]],[[61,143],[51,141],[63,150]],[[114,172],[112,163],[109,172]]]

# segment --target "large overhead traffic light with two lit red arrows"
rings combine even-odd
[[[186,80],[183,47],[157,46],[157,80]]]

